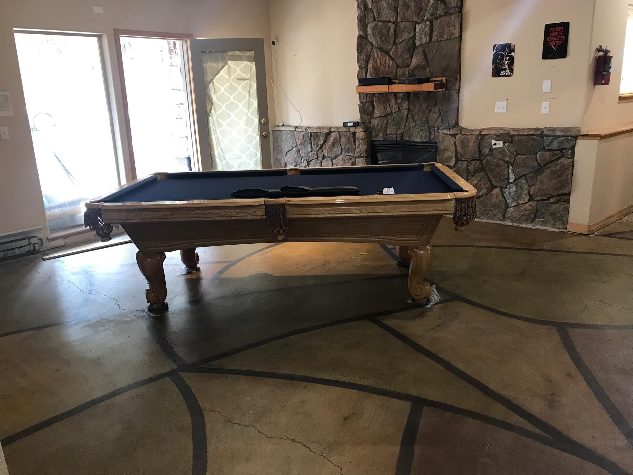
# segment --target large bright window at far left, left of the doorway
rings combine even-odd
[[[84,224],[84,203],[119,185],[101,38],[16,30],[49,231]]]

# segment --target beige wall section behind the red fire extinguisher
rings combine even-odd
[[[624,56],[624,37],[627,29],[629,0],[596,0],[591,49],[589,51],[589,72],[583,131],[602,129],[610,125],[633,121],[633,101],[618,101],[620,95],[620,77],[622,77],[622,58]],[[598,45],[608,46],[613,55],[611,84],[593,85],[595,49]]]

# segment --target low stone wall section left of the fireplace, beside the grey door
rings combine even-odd
[[[273,127],[275,167],[369,165],[365,127]]]

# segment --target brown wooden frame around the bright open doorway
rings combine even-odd
[[[125,72],[123,71],[123,56],[121,54],[121,37],[137,37],[137,38],[155,38],[155,39],[173,39],[185,41],[187,44],[187,56],[189,60],[189,90],[191,91],[191,95],[193,96],[193,80],[191,73],[191,44],[190,41],[193,39],[194,35],[189,33],[166,33],[166,32],[156,32],[156,31],[143,31],[143,30],[123,30],[121,28],[114,28],[115,33],[115,47],[116,47],[116,62],[118,64],[119,69],[119,80],[121,82],[121,94],[123,99],[123,118],[125,120],[125,134],[127,135],[127,148],[128,153],[130,155],[130,172],[132,174],[132,180],[137,179],[136,175],[136,162],[134,161],[134,146],[132,145],[132,127],[130,125],[130,114],[128,110],[127,103],[127,88],[125,87]],[[192,106],[194,103],[194,98],[191,98]],[[195,117],[195,113],[193,110],[189,111],[192,116]],[[192,133],[192,142],[194,148],[197,148],[197,137],[196,131],[194,130],[194,122],[191,124],[191,133]],[[162,170],[156,170],[162,171]]]

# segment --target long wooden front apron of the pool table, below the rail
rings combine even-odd
[[[316,198],[239,201],[249,203],[157,203],[137,208],[105,203],[101,206],[101,218],[106,223],[122,225],[143,252],[306,241],[408,246],[429,243],[442,215],[453,213],[454,208],[449,194],[445,199],[423,201],[385,202],[371,197],[354,203],[328,203]]]

